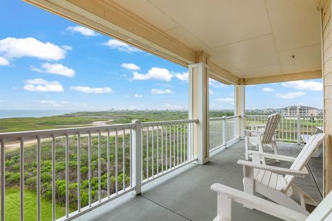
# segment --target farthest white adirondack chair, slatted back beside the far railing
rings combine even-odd
[[[245,142],[246,142],[246,160],[249,160],[251,155],[249,154],[249,144],[252,144],[258,148],[259,152],[263,152],[264,144],[271,146],[275,154],[278,154],[277,143],[275,142],[275,133],[279,124],[281,116],[277,113],[268,116],[266,119],[266,125],[264,130],[244,130]],[[264,157],[261,157],[261,162],[265,164]]]

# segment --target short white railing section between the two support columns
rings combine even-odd
[[[227,145],[237,139],[237,123],[240,116],[211,117],[210,118],[210,151],[227,147]]]

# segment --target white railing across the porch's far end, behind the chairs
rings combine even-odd
[[[255,130],[264,127],[268,115],[246,115],[245,128]],[[277,128],[277,140],[284,142],[302,142],[301,135],[313,135],[317,126],[323,126],[323,116],[282,116]]]

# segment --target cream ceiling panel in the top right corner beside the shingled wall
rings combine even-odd
[[[320,0],[266,0],[277,51],[320,44]]]

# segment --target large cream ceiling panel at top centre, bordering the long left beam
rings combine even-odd
[[[264,0],[149,0],[210,48],[271,32]]]

